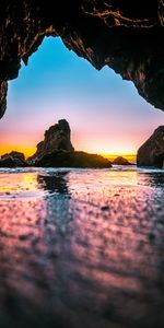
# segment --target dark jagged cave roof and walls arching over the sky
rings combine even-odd
[[[96,69],[107,65],[164,109],[163,13],[163,0],[0,1],[0,116],[8,80],[45,36],[60,36]]]

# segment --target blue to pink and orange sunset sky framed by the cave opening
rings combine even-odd
[[[0,154],[34,153],[44,131],[61,118],[70,124],[75,150],[131,154],[163,125],[164,113],[141,98],[131,82],[107,67],[96,71],[60,38],[49,37],[10,82]]]

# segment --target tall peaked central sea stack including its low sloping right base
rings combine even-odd
[[[30,165],[43,167],[110,167],[101,155],[75,152],[71,143],[71,130],[66,119],[45,132],[44,141],[37,144],[36,153],[27,160]]]

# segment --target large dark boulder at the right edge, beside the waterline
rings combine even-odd
[[[164,167],[164,126],[159,127],[138,150],[137,165]]]

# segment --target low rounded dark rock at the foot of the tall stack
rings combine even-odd
[[[89,154],[78,151],[58,150],[47,153],[37,162],[35,166],[42,167],[82,167],[82,168],[107,168],[112,167],[112,163],[97,154]]]

